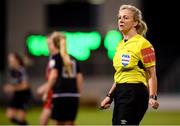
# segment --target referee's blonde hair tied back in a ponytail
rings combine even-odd
[[[132,5],[122,5],[122,6],[120,6],[119,12],[121,10],[124,10],[124,9],[128,9],[128,10],[133,12],[134,21],[138,22],[138,24],[135,27],[136,30],[137,30],[137,33],[140,34],[140,35],[145,36],[148,27],[147,27],[146,23],[142,19],[141,11],[138,8],[136,8],[135,6],[132,6]]]

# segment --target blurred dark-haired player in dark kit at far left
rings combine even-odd
[[[26,125],[26,109],[31,99],[31,90],[27,81],[25,65],[17,53],[9,54],[8,64],[10,81],[4,86],[4,92],[11,97],[6,116],[17,125]]]

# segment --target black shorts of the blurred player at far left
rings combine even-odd
[[[9,102],[9,108],[15,108],[20,110],[26,110],[30,105],[31,91],[16,91],[14,92],[12,99]]]

